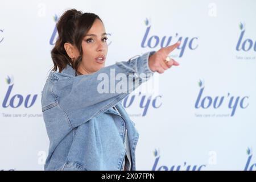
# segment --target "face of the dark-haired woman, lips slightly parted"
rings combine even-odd
[[[82,62],[78,71],[82,74],[97,72],[105,66],[108,53],[107,35],[104,24],[96,19],[82,40]]]

